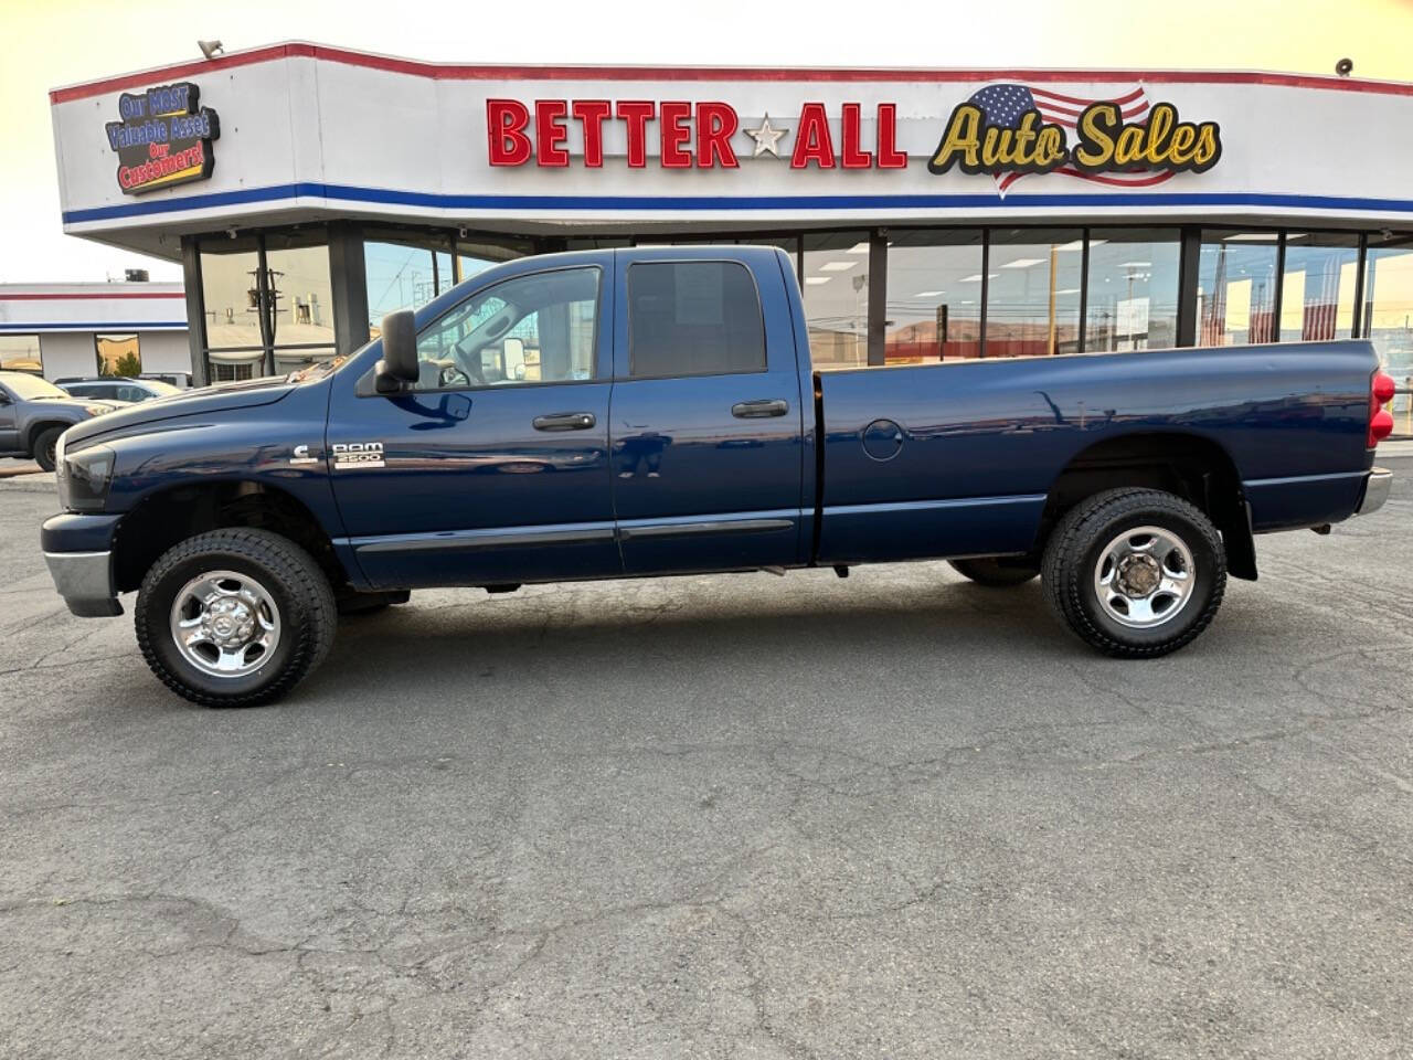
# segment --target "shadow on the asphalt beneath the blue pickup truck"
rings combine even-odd
[[[603,702],[629,685],[650,697],[716,688],[769,698],[861,674],[911,695],[934,693],[947,676],[1043,680],[1057,660],[1099,659],[1053,618],[1039,581],[998,591],[944,578],[861,585],[810,572],[536,587],[497,598],[414,594],[410,605],[345,620],[329,660],[294,698]]]

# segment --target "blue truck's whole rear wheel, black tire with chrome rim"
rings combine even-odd
[[[1060,520],[1043,575],[1051,609],[1081,640],[1121,659],[1152,659],[1211,623],[1226,554],[1217,527],[1181,497],[1111,489]]]

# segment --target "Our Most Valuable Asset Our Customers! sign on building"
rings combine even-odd
[[[120,122],[109,122],[107,146],[117,154],[117,185],[141,195],[203,181],[216,165],[211,141],[220,136],[216,112],[199,105],[188,81],[119,96]]]

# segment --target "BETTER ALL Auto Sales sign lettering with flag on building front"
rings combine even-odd
[[[894,103],[866,109],[846,102],[835,116],[821,102],[803,102],[791,113],[752,123],[721,99],[486,100],[486,160],[496,167],[602,168],[610,130],[626,144],[634,170],[654,158],[664,170],[733,170],[743,141],[746,157],[779,158],[793,170],[909,164]],[[1022,177],[1047,172],[1147,187],[1178,172],[1205,172],[1222,151],[1215,122],[1183,120],[1173,103],[1150,102],[1142,85],[1091,98],[991,83],[958,103],[935,136],[928,172],[986,175],[1002,195]],[[582,151],[571,144],[582,144]]]

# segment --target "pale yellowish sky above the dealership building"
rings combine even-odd
[[[1413,0],[0,0],[0,283],[178,266],[65,236],[48,90],[308,40],[441,62],[746,66],[1152,66],[1413,81]],[[1413,130],[1397,130],[1413,136]],[[1410,178],[1413,179],[1413,178]]]

